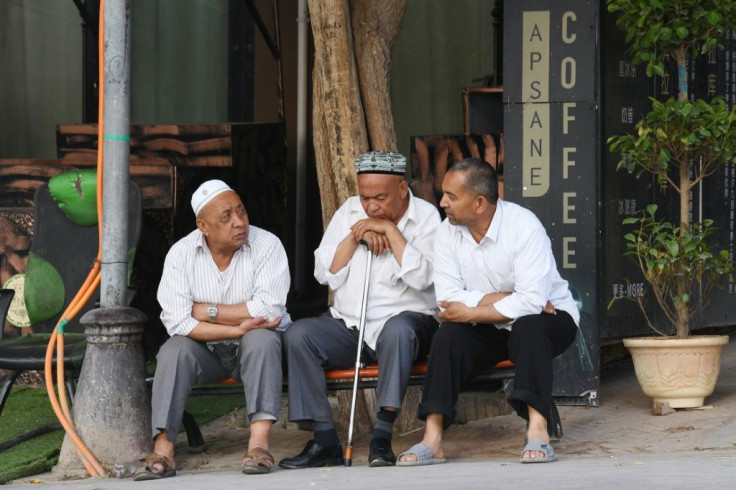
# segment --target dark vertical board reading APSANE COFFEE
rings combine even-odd
[[[555,361],[555,397],[597,404],[598,2],[504,5],[504,192],[534,211],[578,301],[581,331]]]

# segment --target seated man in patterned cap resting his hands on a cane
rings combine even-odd
[[[369,464],[392,466],[391,436],[413,361],[424,358],[437,329],[432,248],[437,209],[404,180],[406,158],[370,152],[355,159],[359,196],[335,213],[314,252],[314,276],[335,293],[318,318],[299,320],[284,335],[289,367],[289,419],[311,421],[314,439],[283,468],[343,463],[327,400],[324,368],[355,365],[363,285],[370,274],[363,354],[379,365],[376,426]],[[360,245],[365,241],[366,246]],[[366,272],[368,253],[373,253]]]

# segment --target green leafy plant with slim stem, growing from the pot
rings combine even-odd
[[[652,110],[636,131],[612,136],[608,144],[621,154],[619,170],[637,177],[650,173],[680,195],[676,223],[657,220],[656,205],[650,205],[624,224],[638,225],[625,235],[627,254],[638,262],[677,336],[687,337],[690,320],[707,303],[716,279],[732,268],[728,252],[714,255],[706,243],[713,222],[690,223],[690,191],[736,156],[736,111],[729,111],[721,98],[688,100],[687,58],[723,47],[726,32],[736,26],[736,2],[607,0],[607,4],[626,33],[632,61],[646,64],[648,76],[663,75],[669,60],[678,68],[678,100],[651,99]],[[636,301],[646,316],[643,300]]]

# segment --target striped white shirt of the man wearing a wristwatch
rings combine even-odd
[[[250,226],[246,243],[220,271],[198,229],[171,247],[158,288],[161,321],[169,335],[188,335],[199,323],[194,303],[245,303],[253,317],[281,317],[279,330],[291,324],[286,312],[290,277],[286,252],[279,239]],[[226,342],[237,342],[226,341]]]

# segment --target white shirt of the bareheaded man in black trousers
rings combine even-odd
[[[435,235],[434,284],[439,301],[478,306],[487,293],[512,294],[496,302],[512,322],[539,314],[549,300],[580,322],[580,312],[557,271],[552,246],[539,219],[517,204],[498,200],[480,243],[466,226],[442,222]]]

